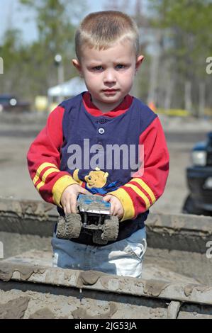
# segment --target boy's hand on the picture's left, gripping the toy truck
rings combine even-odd
[[[82,186],[73,184],[65,188],[61,196],[61,204],[65,215],[69,213],[77,213],[77,196],[79,193],[91,194]]]

